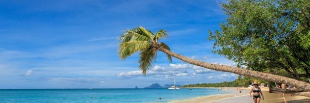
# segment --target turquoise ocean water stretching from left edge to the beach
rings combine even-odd
[[[224,93],[217,89],[0,89],[0,103],[166,103]]]

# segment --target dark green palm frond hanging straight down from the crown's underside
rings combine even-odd
[[[157,50],[153,47],[140,52],[139,67],[143,75],[152,67],[152,62],[156,60]]]

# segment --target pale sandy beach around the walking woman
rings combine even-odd
[[[203,96],[188,100],[172,101],[171,103],[253,103],[253,99],[249,97],[249,89],[243,89],[242,93],[239,93],[236,88],[225,88],[225,90],[231,91],[228,94]],[[260,103],[310,103],[310,98],[304,96],[291,97],[290,94],[286,94],[286,98],[283,98],[282,94],[269,93],[268,88],[262,88],[265,100],[261,99]]]

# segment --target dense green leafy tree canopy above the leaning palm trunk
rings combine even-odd
[[[221,7],[226,21],[209,30],[214,53],[246,69],[310,78],[310,0],[230,0]]]

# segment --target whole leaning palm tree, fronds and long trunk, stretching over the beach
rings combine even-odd
[[[230,72],[248,77],[257,77],[267,81],[286,83],[288,85],[301,88],[304,91],[310,91],[310,83],[299,81],[293,78],[251,71],[238,67],[206,63],[203,61],[188,58],[175,52],[171,52],[169,47],[165,43],[158,43],[159,39],[165,37],[168,37],[165,30],[159,30],[158,32],[156,32],[156,34],[143,28],[142,26],[126,30],[119,37],[121,43],[119,44],[120,47],[118,54],[120,58],[124,60],[133,53],[140,52],[139,67],[144,75],[146,75],[147,71],[150,70],[150,68],[152,67],[152,62],[156,59],[157,51],[161,51],[167,54],[169,61],[172,61],[171,56],[173,56],[189,64],[197,65],[200,67],[216,71]]]

